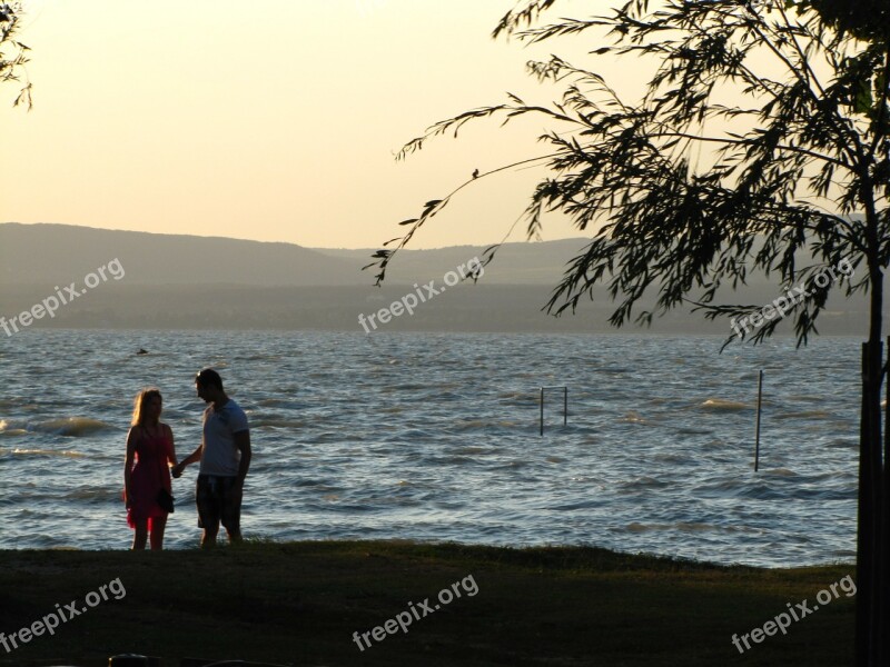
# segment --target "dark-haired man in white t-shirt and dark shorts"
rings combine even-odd
[[[198,396],[207,402],[204,410],[201,446],[172,469],[179,477],[189,464],[200,461],[195,500],[198,527],[204,528],[201,547],[216,545],[219,524],[229,542],[241,541],[241,498],[244,480],[250,468],[250,430],[241,407],[222,390],[222,378],[211,368],[195,378]]]

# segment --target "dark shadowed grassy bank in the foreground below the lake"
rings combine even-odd
[[[810,600],[852,566],[718,567],[604,549],[507,549],[402,541],[245,544],[238,548],[140,552],[0,551],[0,630],[7,636],[120,579],[109,595],[55,635],[0,665],[107,665],[138,653],[176,667],[182,657],[281,665],[439,666],[724,665],[852,663],[853,600],[841,594],[751,644],[750,633],[787,603]],[[472,576],[477,586],[407,633],[368,633]],[[96,598],[92,598],[96,600]],[[422,615],[422,613],[419,614]],[[392,627],[392,626],[390,626]],[[379,635],[379,633],[378,633]]]

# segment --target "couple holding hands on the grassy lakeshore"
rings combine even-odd
[[[195,492],[198,527],[204,528],[201,547],[216,545],[220,522],[230,542],[241,540],[241,495],[251,454],[247,416],[226,396],[215,370],[200,371],[195,387],[208,404],[204,432],[200,447],[181,462],[176,461],[172,430],[160,421],[160,391],[142,389],[136,397],[123,465],[127,524],[136,530],[134,549],[145,549],[149,539],[152,549],[162,548],[167,515],[172,511],[170,474],[178,478],[195,461],[201,464]]]

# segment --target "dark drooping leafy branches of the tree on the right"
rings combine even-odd
[[[399,153],[471,120],[541,115],[553,121],[540,137],[552,149],[543,158],[552,175],[532,193],[527,235],[538,233],[546,211],[561,211],[594,239],[556,289],[552,312],[576,308],[603,282],[620,299],[615,326],[633,319],[647,291],[657,308],[636,315],[640,322],[683,302],[710,318],[745,317],[762,305],[718,305],[714,296],[723,285],[743,283],[753,269],[778,273],[789,290],[843,258],[857,267],[870,252],[870,267],[887,266],[890,243],[864,243],[869,227],[877,230],[886,218],[878,209],[890,177],[886,49],[832,29],[804,4],[774,0],[674,0],[651,12],[649,2],[636,0],[611,16],[533,26],[555,1],[524,3],[502,19],[495,37],[541,42],[597,30],[599,46],[605,33],[612,43],[593,51],[594,62],[610,52],[661,60],[641,100],[621,99],[595,71],[553,56],[527,67],[565,84],[558,102],[530,106],[510,94],[505,103],[437,122]],[[771,69],[758,71],[754,53],[768,53]],[[820,73],[825,68],[828,76]],[[726,89],[742,94],[745,106],[716,99]],[[713,163],[693,163],[700,145],[714,149]],[[474,180],[404,222],[407,233],[370,265],[379,267],[378,282],[395,252]],[[854,212],[866,220],[848,217]],[[812,263],[801,263],[805,256]],[[799,341],[818,332],[832,287],[847,295],[868,287],[870,275],[859,276],[852,283],[812,286],[793,311]],[[755,340],[779,321],[768,321]]]

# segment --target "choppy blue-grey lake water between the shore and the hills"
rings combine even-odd
[[[244,528],[275,539],[587,544],[765,566],[852,560],[859,347],[718,338],[23,331],[0,339],[0,548],[127,548],[132,398],[180,457],[192,378],[251,421]],[[140,347],[150,354],[136,356]],[[764,369],[761,471],[752,470]],[[538,387],[547,395],[538,435]],[[175,481],[167,546],[198,538]]]

